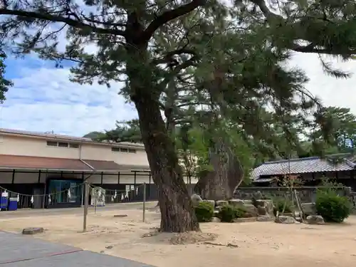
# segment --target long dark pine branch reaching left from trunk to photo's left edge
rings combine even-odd
[[[43,21],[63,22],[66,23],[68,26],[72,26],[74,28],[83,28],[83,29],[90,28],[95,33],[125,36],[124,31],[111,29],[111,28],[98,28],[83,23],[83,21],[75,21],[74,19],[69,19],[63,16],[56,16],[52,14],[37,13],[33,11],[23,11],[23,10],[0,9],[0,15],[12,15],[12,16],[21,16],[21,17],[32,18],[32,19],[41,19]]]

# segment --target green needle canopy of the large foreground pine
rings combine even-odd
[[[56,61],[57,66],[62,66],[63,60],[74,61],[71,71],[78,83],[110,86],[125,82],[120,93],[128,101],[135,99],[137,88],[145,88],[142,99],[162,109],[167,129],[198,120],[214,129],[204,130],[210,135],[204,142],[220,135],[227,135],[226,140],[231,137],[231,142],[237,138],[234,150],[241,162],[247,162],[242,165],[248,174],[251,161],[255,165],[290,153],[307,155],[298,137],[308,135],[312,128],[321,132],[331,129],[330,123],[318,116],[326,115],[318,99],[303,88],[308,80],[305,73],[282,66],[290,51],[353,56],[355,3],[332,2],[315,6],[313,1],[275,1],[271,9],[258,9],[262,2],[257,0],[232,6],[192,0],[186,11],[179,9],[173,18],[171,11],[187,1],[152,1],[149,5],[146,1],[73,1],[68,6],[58,0],[33,5],[19,0],[14,6],[1,7],[1,14],[9,16],[1,23],[0,45],[16,54],[34,51]],[[87,9],[93,13],[85,15]],[[43,18],[43,13],[49,15]],[[68,14],[81,15],[68,19]],[[148,25],[151,27],[144,31]],[[62,44],[59,30],[66,31],[69,42],[64,52],[58,50]],[[98,49],[89,53],[84,48],[90,45]],[[345,77],[320,60],[326,73]],[[315,117],[310,120],[313,112]],[[224,130],[226,125],[234,129]],[[128,129],[121,127],[105,133],[107,139],[141,140],[136,128],[127,135]],[[310,140],[320,149],[324,137],[323,132],[321,138]],[[203,169],[209,165],[205,158],[199,156]]]

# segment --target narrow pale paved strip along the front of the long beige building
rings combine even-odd
[[[146,207],[150,208],[157,204],[157,201],[146,202]],[[108,204],[107,206],[97,207],[97,212],[110,211],[113,209],[142,209],[142,202]],[[94,213],[94,208],[89,207],[89,213]],[[56,216],[64,214],[83,214],[83,208],[66,209],[19,209],[17,211],[0,211],[1,219],[16,219],[30,216]]]

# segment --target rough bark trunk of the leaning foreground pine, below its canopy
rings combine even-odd
[[[184,183],[182,168],[178,164],[174,143],[165,128],[158,102],[150,96],[149,93],[135,95],[132,100],[137,108],[152,179],[158,190],[161,230],[199,231],[199,223]]]

